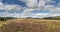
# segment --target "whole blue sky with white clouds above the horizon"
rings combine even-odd
[[[60,0],[0,0],[0,17],[60,16]]]

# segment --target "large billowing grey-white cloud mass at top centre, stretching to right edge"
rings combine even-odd
[[[51,13],[60,12],[60,7],[55,7],[55,5],[49,5],[49,3],[54,3],[53,0],[19,0],[26,3],[27,7],[23,14],[28,15],[32,11],[36,10],[49,10]],[[48,3],[48,4],[47,4]],[[47,5],[46,5],[47,4]],[[31,10],[32,9],[32,10]],[[28,10],[28,11],[27,11]]]

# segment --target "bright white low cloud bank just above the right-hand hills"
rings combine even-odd
[[[36,13],[31,16],[32,18],[45,18],[45,17],[55,17],[60,16],[60,14],[47,14],[47,13]]]

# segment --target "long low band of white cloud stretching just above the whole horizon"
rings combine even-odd
[[[47,14],[47,13],[36,13],[36,14],[30,14],[30,15],[21,15],[18,13],[15,14],[5,14],[3,13],[1,17],[15,17],[15,18],[27,18],[27,17],[32,17],[32,18],[44,18],[44,17],[55,17],[55,16],[60,16],[60,14]]]

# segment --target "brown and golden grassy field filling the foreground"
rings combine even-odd
[[[27,18],[0,21],[0,32],[60,32],[60,20]]]

